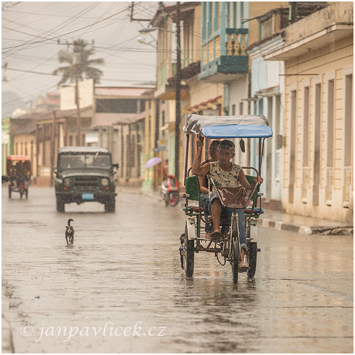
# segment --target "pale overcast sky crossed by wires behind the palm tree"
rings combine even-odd
[[[135,4],[133,18],[151,19],[158,9],[157,2]],[[100,85],[132,86],[155,81],[155,49],[137,40],[141,36],[138,29],[148,22],[130,22],[131,5],[131,2],[3,2],[2,66],[7,63],[7,69],[2,70],[3,117],[13,111],[14,105],[21,106],[21,100],[28,103],[39,94],[58,90],[59,76],[26,71],[52,73],[60,66],[58,51],[66,48],[66,41],[71,43],[78,38],[90,43],[94,40],[93,58],[105,59],[105,65],[100,67],[104,72]],[[98,21],[101,22],[95,24]],[[9,92],[18,94],[19,100],[9,97]]]

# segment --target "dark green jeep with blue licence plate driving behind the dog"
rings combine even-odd
[[[59,148],[57,167],[53,169],[57,211],[64,212],[66,203],[100,202],[105,204],[106,212],[115,212],[117,169],[106,148]]]

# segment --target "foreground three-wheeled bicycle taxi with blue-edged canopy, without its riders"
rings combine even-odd
[[[200,185],[197,175],[190,176],[192,167],[188,169],[190,135],[202,135],[209,139],[240,139],[240,148],[243,150],[244,141],[242,138],[258,139],[258,167],[242,166],[243,171],[252,174],[247,175],[249,184],[261,170],[262,152],[264,140],[272,137],[273,131],[269,127],[268,119],[263,115],[241,115],[241,116],[200,116],[189,115],[187,118],[184,133],[187,135],[186,161],[185,161],[185,187],[186,199],[184,212],[187,215],[185,233],[181,236],[181,266],[186,276],[191,277],[194,273],[195,253],[206,251],[214,253],[218,262],[225,265],[227,262],[232,267],[233,283],[238,282],[238,263],[240,257],[240,240],[238,227],[238,214],[236,209],[243,209],[245,214],[245,232],[247,252],[245,264],[250,268],[247,277],[253,278],[256,271],[256,256],[260,251],[257,247],[257,219],[263,213],[261,209],[261,196],[259,185],[248,188],[225,188],[218,187],[210,180],[220,196],[221,203],[225,207],[233,209],[230,220],[221,218],[220,227],[222,238],[214,241],[206,238],[203,225],[206,223],[203,206],[200,201]],[[209,221],[207,221],[209,222]],[[212,221],[211,221],[212,223]]]

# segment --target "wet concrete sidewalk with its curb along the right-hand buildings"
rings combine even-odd
[[[162,201],[159,192],[147,192],[139,188],[117,187],[117,192],[128,192],[131,194],[145,195],[154,200]],[[181,201],[184,206],[185,201]],[[263,227],[275,228],[278,230],[289,230],[300,234],[353,234],[353,225],[340,221],[329,221],[313,217],[292,215],[279,211],[263,209],[264,214],[260,216],[259,225]]]

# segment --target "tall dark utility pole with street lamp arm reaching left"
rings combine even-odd
[[[179,181],[180,168],[180,122],[181,122],[181,46],[180,46],[180,3],[176,2],[176,31],[159,27],[143,27],[139,33],[145,34],[152,31],[165,31],[176,35],[176,91],[175,91],[175,176]]]

